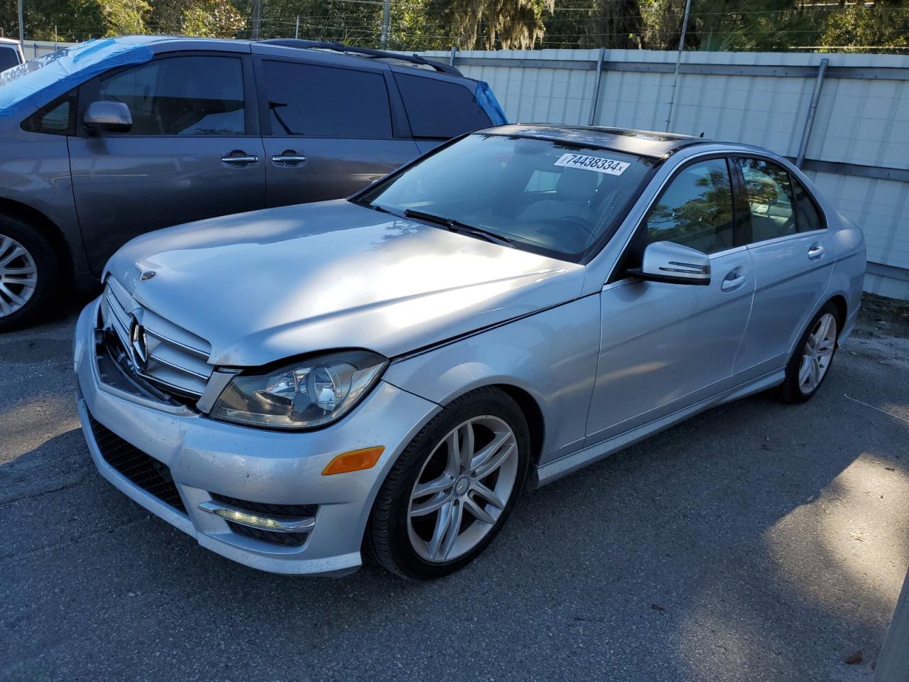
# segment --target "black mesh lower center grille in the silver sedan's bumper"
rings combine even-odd
[[[170,469],[155,457],[146,455],[138,447],[127,443],[109,428],[88,415],[88,424],[95,436],[95,443],[105,462],[123,476],[151,493],[165,504],[173,506],[181,514],[186,513],[183,499],[174,484]]]

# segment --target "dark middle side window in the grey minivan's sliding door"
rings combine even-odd
[[[272,136],[392,136],[384,75],[272,60],[264,71]]]

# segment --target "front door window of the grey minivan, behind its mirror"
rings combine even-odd
[[[122,135],[244,135],[243,64],[232,56],[177,56],[103,79],[99,98],[123,102]]]

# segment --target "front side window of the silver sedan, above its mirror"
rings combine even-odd
[[[647,214],[648,242],[714,254],[734,246],[733,193],[724,159],[686,166]]]

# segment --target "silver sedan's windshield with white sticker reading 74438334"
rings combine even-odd
[[[402,216],[444,217],[577,262],[637,196],[654,163],[565,142],[468,135],[355,201]]]

